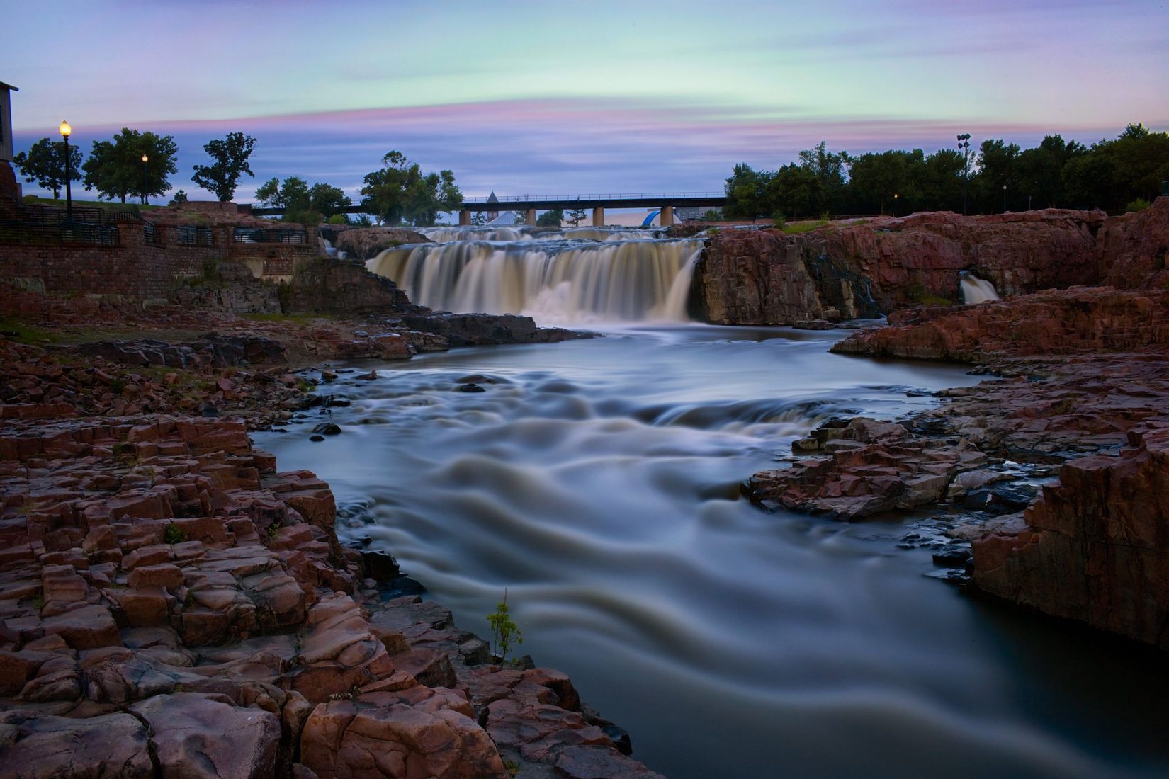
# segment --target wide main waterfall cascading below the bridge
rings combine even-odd
[[[366,266],[443,311],[527,314],[541,325],[686,321],[701,248],[694,239],[458,241],[395,246]]]

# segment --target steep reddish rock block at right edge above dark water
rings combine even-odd
[[[1128,443],[1065,464],[1022,517],[976,538],[974,582],[1169,649],[1169,427]]]

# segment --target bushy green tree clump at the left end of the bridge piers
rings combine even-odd
[[[361,204],[381,224],[431,227],[441,211],[457,211],[463,206],[454,173],[423,174],[417,162],[397,151],[381,158],[381,169],[367,173],[362,181]]]

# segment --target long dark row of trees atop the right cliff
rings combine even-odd
[[[949,210],[997,214],[1032,208],[1139,210],[1169,180],[1169,133],[1128,125],[1092,146],[1046,135],[1035,148],[1002,139],[977,152],[888,149],[852,155],[821,141],[798,162],[755,171],[742,162],[726,180],[724,215],[776,220],[826,214]]]

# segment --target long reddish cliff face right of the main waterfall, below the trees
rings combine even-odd
[[[1153,211],[1143,220],[1169,229],[1169,203]],[[960,301],[963,270],[992,281],[1003,295],[1098,284],[1105,265],[1099,234],[1107,222],[1101,211],[1049,209],[878,217],[803,235],[724,230],[699,262],[692,308],[718,324],[788,325],[874,317],[927,297]],[[1139,251],[1144,238],[1137,236],[1149,232],[1128,222],[1115,220],[1108,234],[1113,252]]]

